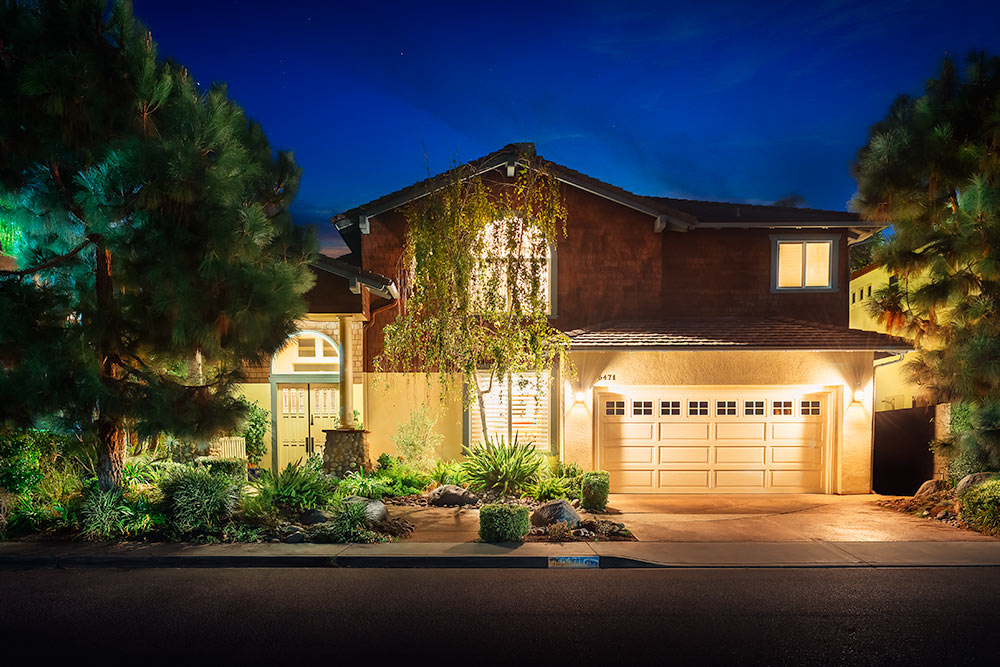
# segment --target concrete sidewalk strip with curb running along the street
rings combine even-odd
[[[550,544],[0,543],[24,568],[845,568],[1000,567],[1000,540],[970,542],[567,542]]]

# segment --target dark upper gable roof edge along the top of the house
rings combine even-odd
[[[344,238],[347,246],[353,252],[359,252],[361,234],[367,233],[369,218],[391,211],[438,190],[449,177],[456,175],[456,173],[462,177],[471,177],[497,169],[506,169],[508,176],[512,176],[515,167],[528,166],[527,158],[532,158],[540,163],[564,183],[649,215],[655,219],[654,231],[657,232],[668,227],[674,231],[688,231],[697,228],[791,227],[825,229],[835,227],[849,229],[853,240],[859,240],[885,226],[878,222],[863,221],[857,213],[846,211],[637,195],[575,169],[545,160],[535,152],[535,146],[531,143],[508,144],[479,159],[339,213],[330,220]]]

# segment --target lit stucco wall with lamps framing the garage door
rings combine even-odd
[[[809,385],[841,397],[832,441],[833,493],[871,491],[871,352],[678,351],[571,352],[578,378],[563,402],[562,457],[594,466],[594,384],[624,388],[651,385]],[[601,379],[613,376],[613,379]],[[861,389],[864,397],[854,402]]]

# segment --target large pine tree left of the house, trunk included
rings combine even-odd
[[[0,419],[94,439],[115,488],[126,423],[231,428],[243,362],[304,313],[299,169],[224,87],[160,62],[127,2],[5,5],[0,25],[0,95],[16,100],[0,179],[23,267],[0,274]]]

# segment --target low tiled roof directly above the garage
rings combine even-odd
[[[779,317],[615,322],[568,331],[566,335],[573,350],[913,350],[912,343],[895,336]]]

